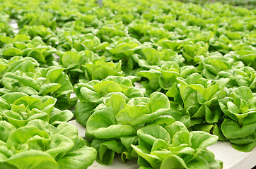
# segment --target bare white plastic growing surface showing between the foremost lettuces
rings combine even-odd
[[[86,128],[76,123],[76,120],[71,120],[69,123],[75,125],[78,128],[78,134],[84,137]],[[231,146],[230,142],[217,142],[214,145],[209,146],[207,149],[215,154],[215,158],[223,161],[223,169],[251,169],[256,165],[256,148],[249,153],[236,151]],[[114,163],[109,166],[100,165],[96,161],[88,167],[88,169],[136,169],[139,166],[134,161],[127,161],[122,163],[121,157],[117,156]]]

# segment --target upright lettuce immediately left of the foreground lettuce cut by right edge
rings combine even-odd
[[[208,125],[204,126],[203,124],[218,123],[223,117],[218,101],[226,96],[223,89],[229,80],[222,78],[211,82],[197,73],[193,73],[186,79],[182,77],[177,79],[178,91],[184,108],[190,114],[190,125],[209,132],[211,127],[208,128]],[[201,126],[198,126],[200,124]]]

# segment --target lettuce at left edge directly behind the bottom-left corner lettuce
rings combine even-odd
[[[59,125],[70,120],[73,113],[54,108],[56,101],[51,96],[28,96],[18,92],[4,94],[1,96],[1,116],[15,127],[23,127],[34,119]]]

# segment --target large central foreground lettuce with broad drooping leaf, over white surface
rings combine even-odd
[[[157,92],[150,99],[135,97],[126,101],[120,94],[105,99],[86,124],[86,137],[93,139],[91,146],[98,151],[98,162],[112,163],[115,152],[122,154],[122,161],[136,159],[131,147],[137,142],[136,130],[168,113],[169,108],[168,98]]]

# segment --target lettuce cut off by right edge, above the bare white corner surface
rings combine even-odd
[[[255,94],[249,87],[233,89],[230,97],[219,100],[226,118],[221,124],[223,135],[239,151],[251,151],[255,140]]]

